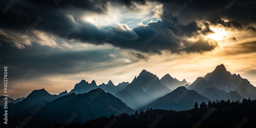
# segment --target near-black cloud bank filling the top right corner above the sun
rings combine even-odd
[[[225,17],[229,20],[236,21],[240,24],[247,25],[251,22],[256,22],[256,17],[254,12],[256,12],[256,1],[251,0],[214,0],[214,1],[205,1],[205,0],[172,0],[165,1],[159,0],[163,4],[165,11],[169,13],[176,12],[176,9],[180,8],[180,5],[184,5],[185,2],[188,5],[185,9],[180,12],[177,17],[185,17],[187,20],[191,19],[202,19],[207,18],[211,22],[217,21],[217,16]],[[191,1],[191,3],[190,3]],[[229,2],[232,2],[229,4]],[[225,7],[227,5],[227,9]],[[230,6],[231,5],[231,6]]]

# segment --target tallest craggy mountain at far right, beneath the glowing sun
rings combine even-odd
[[[201,80],[199,80],[201,79]],[[203,79],[199,77],[194,81],[188,89],[197,91],[198,93],[203,93],[205,89],[214,86],[215,91],[218,90],[241,92],[242,89],[246,90],[252,95],[256,94],[256,87],[254,87],[247,79],[243,79],[239,74],[231,74],[223,64],[218,65],[214,71],[207,73]],[[241,92],[243,93],[243,91]],[[223,93],[218,93],[220,98],[224,97]],[[226,95],[226,94],[225,94]]]

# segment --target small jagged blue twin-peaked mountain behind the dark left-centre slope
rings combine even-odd
[[[81,80],[79,83],[77,83],[74,86],[74,89],[72,89],[69,92],[69,94],[70,93],[83,94],[83,93],[89,92],[92,89],[96,89],[96,88],[98,88],[98,86],[97,86],[97,84],[96,84],[96,82],[94,80],[91,83],[88,83],[85,80]]]

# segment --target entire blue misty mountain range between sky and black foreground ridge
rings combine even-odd
[[[131,83],[122,82],[117,86],[111,80],[99,86],[94,80],[91,83],[81,80],[70,92],[65,90],[58,95],[39,89],[26,98],[8,98],[8,114],[17,117],[15,121],[22,121],[31,110],[44,104],[36,113],[38,122],[47,119],[52,124],[62,123],[72,113],[77,113],[75,121],[83,123],[102,116],[123,112],[133,114],[135,110],[146,111],[148,108],[184,111],[192,109],[195,102],[199,105],[216,99],[242,101],[248,97],[255,99],[255,94],[256,87],[239,74],[231,74],[222,64],[193,83],[185,79],[179,81],[169,74],[159,79],[155,74],[142,70]],[[0,98],[3,105],[4,97]],[[3,112],[3,107],[0,110]]]

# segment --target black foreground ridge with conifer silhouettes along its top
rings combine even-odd
[[[56,124],[52,128],[120,128],[120,127],[250,127],[256,121],[256,100],[243,99],[241,101],[217,100],[200,105],[201,108],[187,111],[169,111],[162,109],[148,109],[145,113],[137,112],[129,115],[121,113],[110,117],[89,120],[86,123]],[[203,108],[206,107],[206,108]],[[171,109],[171,108],[170,108]],[[49,128],[49,126],[47,126]]]

